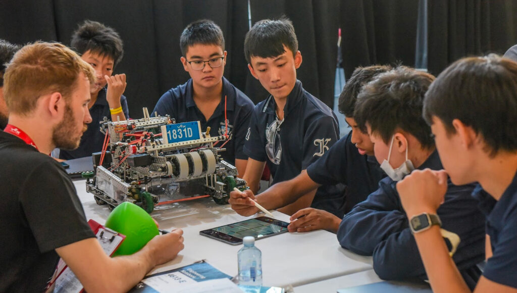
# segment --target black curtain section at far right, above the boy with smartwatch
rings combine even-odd
[[[513,0],[430,0],[428,69],[439,74],[468,55],[504,54],[517,43]]]

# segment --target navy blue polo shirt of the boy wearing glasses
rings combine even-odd
[[[155,112],[162,116],[169,114],[178,123],[200,121],[201,131],[206,131],[206,127],[210,126],[210,136],[219,136],[225,133],[224,112],[226,104],[228,134],[232,135],[232,139],[224,145],[226,151],[220,154],[226,162],[235,165],[236,158],[248,159],[248,156],[242,151],[242,147],[254,105],[248,96],[239,91],[226,78],[223,77],[222,81],[221,102],[208,121],[192,98],[192,79],[163,94],[158,100],[152,115],[154,116]],[[220,147],[221,145],[222,143],[219,143],[216,146]]]

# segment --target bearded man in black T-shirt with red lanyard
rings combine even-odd
[[[86,124],[91,66],[59,43],[38,42],[5,72],[9,124],[0,131],[0,291],[45,290],[59,257],[88,292],[127,291],[184,247],[183,231],[156,236],[139,252],[111,258],[86,223],[65,170],[48,154],[79,145]]]

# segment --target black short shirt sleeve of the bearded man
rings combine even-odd
[[[41,253],[95,237],[64,170],[44,162],[23,182],[20,203]]]

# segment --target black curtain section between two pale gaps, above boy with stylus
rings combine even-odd
[[[417,0],[341,0],[345,76],[357,66],[414,66],[417,19]]]

